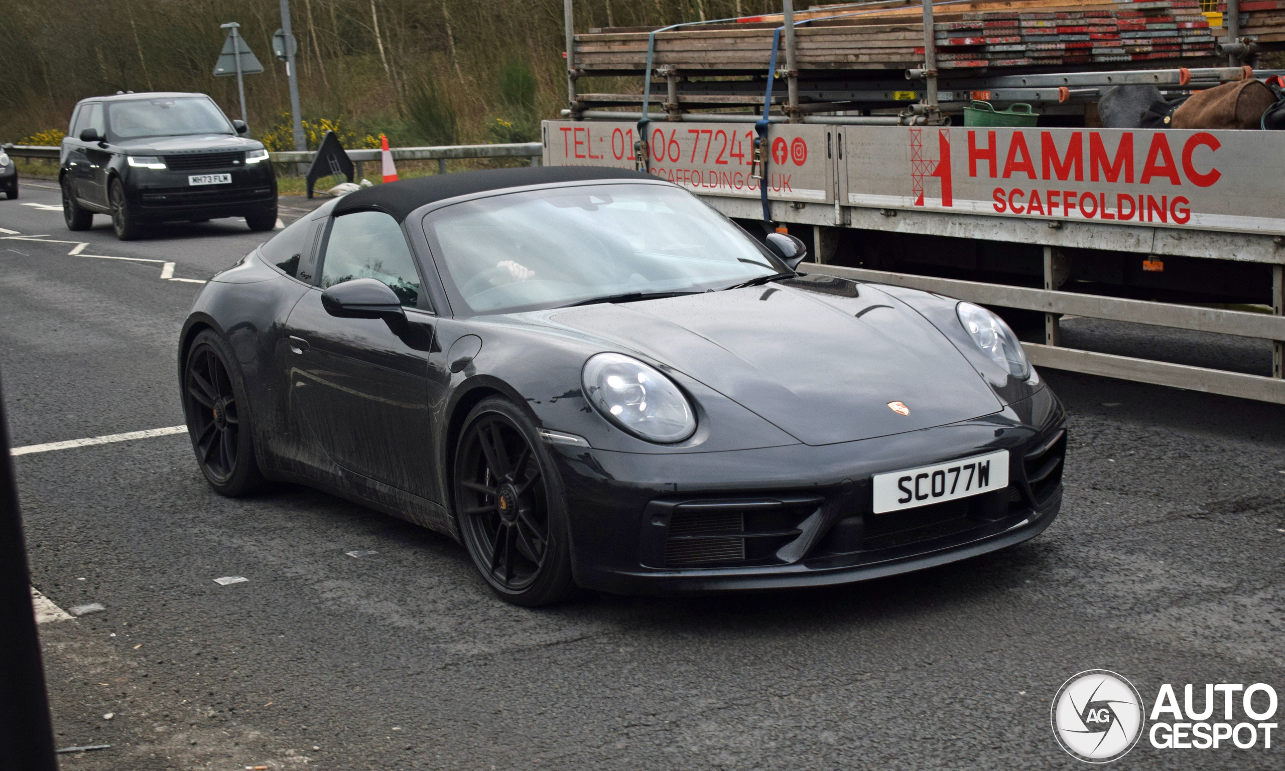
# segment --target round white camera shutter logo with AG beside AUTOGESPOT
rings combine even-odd
[[[1064,682],[1052,699],[1052,734],[1072,757],[1108,763],[1142,736],[1142,696],[1108,669],[1088,669]]]

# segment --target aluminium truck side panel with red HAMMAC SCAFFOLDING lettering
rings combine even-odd
[[[840,131],[847,206],[1285,234],[1285,137],[1270,131]]]

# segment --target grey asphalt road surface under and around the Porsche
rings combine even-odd
[[[207,279],[262,235],[216,220],[120,243],[102,216],[68,233],[57,206],[33,181],[0,202],[14,446],[179,425],[175,343],[199,284],[164,263]],[[1068,339],[1092,339],[1077,321]],[[1113,335],[1250,370],[1262,356]],[[1076,768],[1049,709],[1083,669],[1124,675],[1146,704],[1167,682],[1180,699],[1268,682],[1285,702],[1285,409],[1043,375],[1070,414],[1049,531],[819,591],[527,610],[439,535],[299,487],[215,495],[185,434],[18,456],[32,583],[105,607],[41,625],[59,747],[112,745],[62,766]],[[1117,765],[1266,768],[1282,752],[1144,738]]]

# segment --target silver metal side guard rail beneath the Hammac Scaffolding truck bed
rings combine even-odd
[[[1281,266],[1273,266],[1275,315],[1121,299],[1077,294],[1074,292],[1058,292],[1054,289],[984,284],[959,279],[939,279],[935,276],[842,267],[838,265],[808,263],[804,270],[864,281],[924,289],[980,305],[1041,311],[1046,314],[1045,344],[1023,343],[1027,355],[1031,357],[1031,362],[1037,366],[1285,403],[1285,379],[1281,378],[1282,359],[1285,359],[1285,343],[1281,342],[1285,341],[1285,315],[1282,315],[1285,276],[1282,276]],[[1272,356],[1272,373],[1275,377],[1266,378],[1262,375],[1061,347],[1058,344],[1058,320],[1061,315],[1133,321],[1156,326],[1275,341]]]

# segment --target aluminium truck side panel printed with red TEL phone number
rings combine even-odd
[[[702,195],[759,199],[753,172],[753,123],[671,123],[648,127],[653,175]],[[774,123],[768,128],[767,197],[834,203],[833,126]],[[637,123],[545,121],[545,166],[634,168]]]

